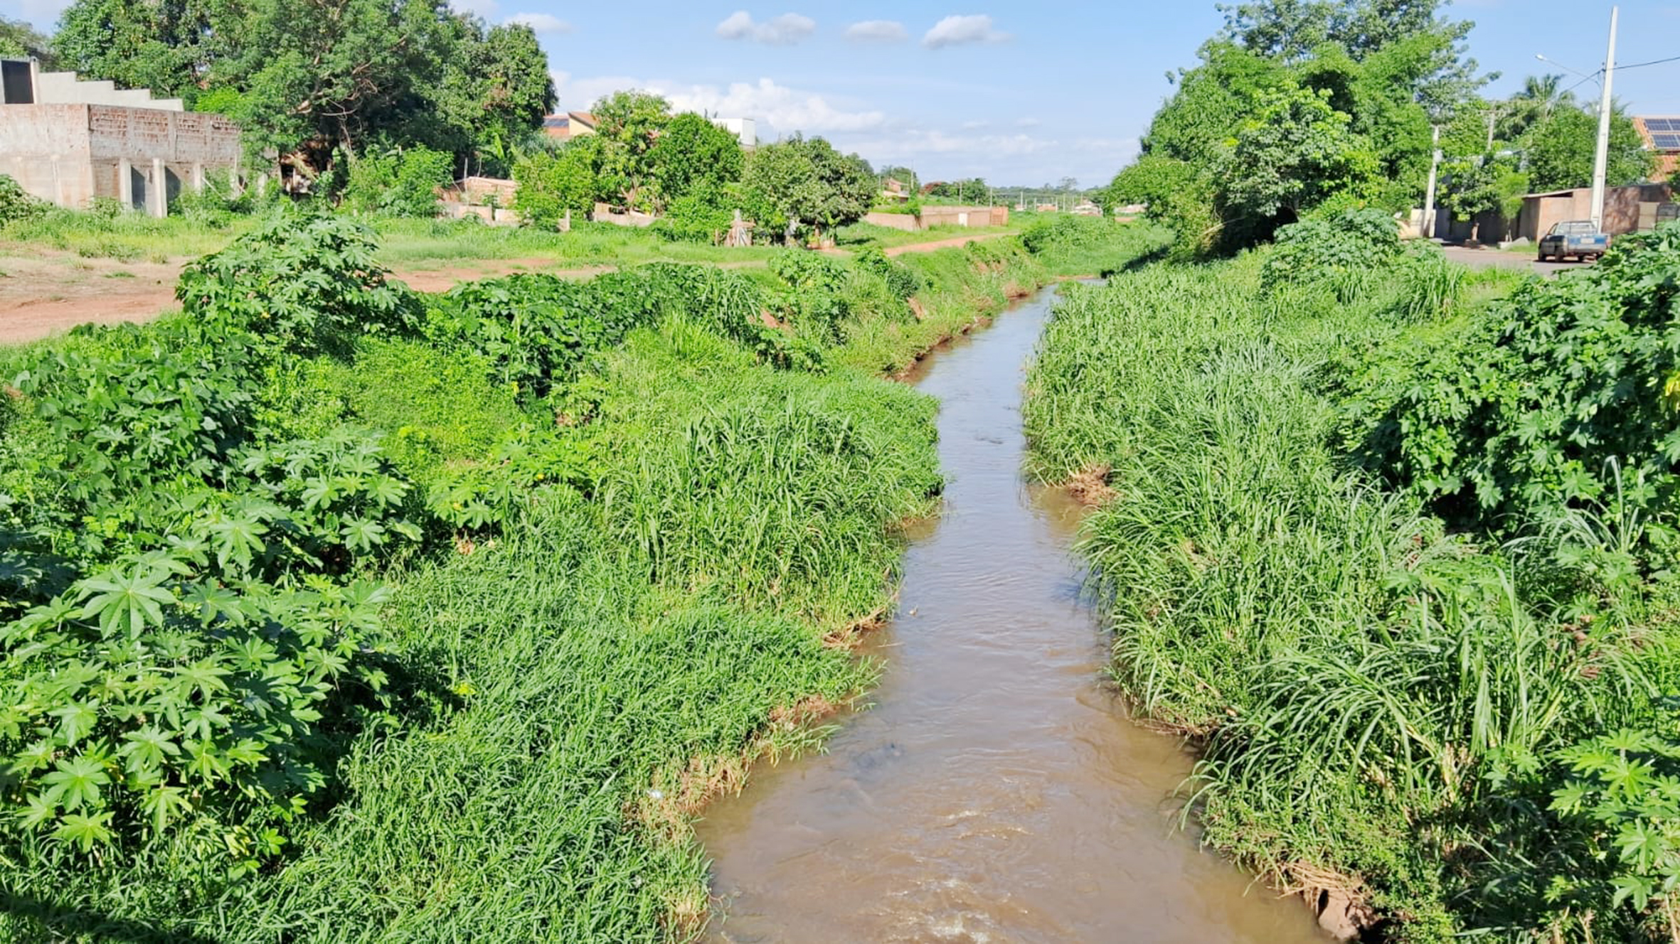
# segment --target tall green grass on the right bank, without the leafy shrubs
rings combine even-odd
[[[1425,262],[1262,291],[1258,262],[1068,292],[1028,378],[1033,472],[1114,490],[1082,548],[1116,679],[1198,737],[1186,811],[1275,884],[1346,892],[1398,941],[1567,937],[1567,907],[1495,900],[1490,875],[1534,870],[1482,840],[1520,831],[1499,813],[1509,771],[1650,716],[1672,675],[1660,606],[1556,534],[1448,534],[1336,448],[1346,364],[1450,324],[1478,284]],[[1571,635],[1583,600],[1593,628]]]

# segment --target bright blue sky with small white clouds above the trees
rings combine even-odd
[[[1223,22],[1215,0],[452,2],[538,29],[561,108],[654,89],[679,108],[756,118],[761,136],[822,134],[872,163],[912,165],[924,180],[998,185],[1105,183],[1171,92],[1166,72],[1194,64]],[[50,27],[64,3],[0,0],[0,12]],[[1537,52],[1583,72],[1604,59],[1609,3],[1460,0],[1446,15],[1477,24],[1470,54],[1504,74],[1490,94],[1562,72]],[[1680,0],[1621,3],[1616,59],[1680,55],[1677,35]],[[1635,113],[1680,114],[1680,62],[1618,74],[1614,91]]]

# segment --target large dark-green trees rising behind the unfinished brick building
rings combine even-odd
[[[84,79],[228,114],[254,156],[272,148],[311,181],[363,153],[415,146],[506,175],[512,148],[554,108],[529,27],[491,27],[432,0],[331,0],[307,13],[276,0],[76,0],[52,50]]]

